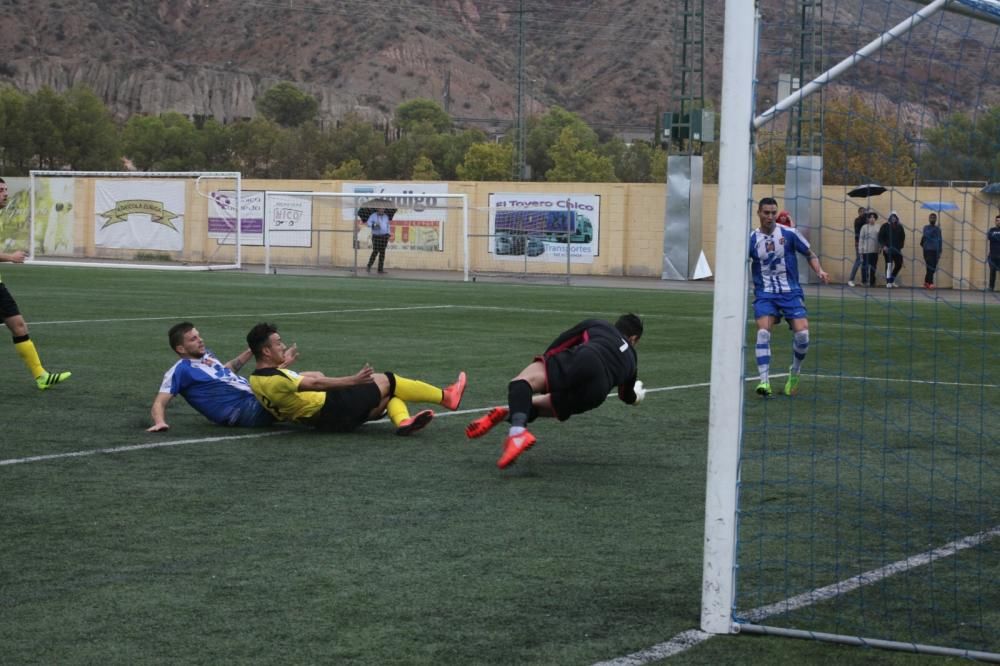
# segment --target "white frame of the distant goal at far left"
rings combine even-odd
[[[208,196],[198,189],[202,179],[219,179],[235,181],[236,190],[236,257],[231,264],[140,264],[115,261],[73,261],[61,259],[38,259],[35,257],[35,179],[49,178],[194,178],[195,190],[202,196]],[[32,169],[28,172],[28,189],[31,198],[31,215],[28,232],[28,257],[26,261],[48,266],[86,266],[95,268],[140,268],[160,271],[218,271],[239,270],[242,267],[243,225],[240,220],[240,202],[243,192],[243,174],[239,171],[52,171]]]

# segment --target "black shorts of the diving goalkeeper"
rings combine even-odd
[[[552,409],[560,421],[599,407],[613,388],[608,386],[601,359],[586,345],[541,360],[545,364]]]

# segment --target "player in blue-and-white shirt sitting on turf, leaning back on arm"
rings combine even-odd
[[[205,348],[201,333],[189,321],[181,322],[167,332],[170,348],[180,360],[163,375],[160,392],[149,410],[153,425],[149,432],[165,432],[167,405],[175,395],[182,395],[188,404],[212,423],[229,426],[266,426],[274,417],[254,397],[250,382],[237,373],[252,354],[245,349],[239,356],[222,363]],[[283,366],[298,357],[295,346],[287,349]]]

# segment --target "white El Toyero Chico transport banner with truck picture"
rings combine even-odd
[[[589,264],[598,256],[596,194],[490,194],[489,251],[498,258]]]

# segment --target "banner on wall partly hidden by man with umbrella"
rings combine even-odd
[[[371,195],[371,199],[389,204],[382,206],[392,211],[389,224],[390,250],[417,250],[440,252],[444,250],[444,224],[448,220],[446,208],[438,208],[435,195],[448,194],[447,183],[344,183],[343,192]],[[358,211],[365,211],[368,197],[359,197],[355,207],[345,206],[341,212],[344,221],[356,218]],[[367,222],[367,220],[362,220]],[[358,233],[362,247],[371,246],[368,227]]]

